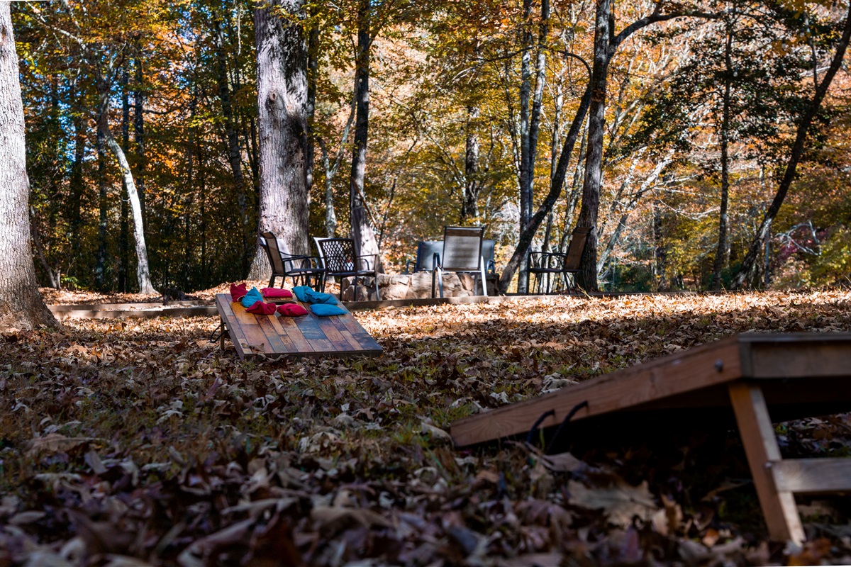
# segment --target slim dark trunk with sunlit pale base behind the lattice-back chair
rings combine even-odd
[[[367,141],[369,133],[369,50],[370,0],[360,0],[357,12],[357,64],[355,66],[355,117],[354,150],[351,156],[351,184],[349,190],[349,216],[351,236],[355,240],[358,254],[378,254],[378,241],[369,223],[364,203],[363,179],[366,173]],[[376,269],[380,269],[380,257],[376,256]]]

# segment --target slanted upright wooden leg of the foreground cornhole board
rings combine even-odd
[[[770,462],[780,461],[780,447],[774,437],[762,389],[755,383],[735,382],[729,384],[728,391],[762,515],[768,524],[768,535],[775,541],[791,540],[800,544],[805,536],[795,496],[788,490],[775,490],[768,470]]]

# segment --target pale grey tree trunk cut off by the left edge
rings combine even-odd
[[[32,264],[24,106],[9,3],[0,3],[0,331],[58,326]]]

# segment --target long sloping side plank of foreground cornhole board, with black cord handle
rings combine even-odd
[[[546,411],[554,411],[555,415],[545,418],[541,427],[557,425],[575,405],[584,401],[588,402],[587,407],[577,411],[574,420],[732,382],[741,375],[739,356],[735,337],[722,339],[552,394],[466,417],[452,424],[452,438],[456,445],[473,445],[526,432]]]

